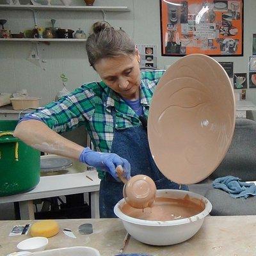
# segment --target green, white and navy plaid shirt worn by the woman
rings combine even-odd
[[[163,73],[164,70],[141,72],[140,99],[146,117],[148,117],[152,95]],[[116,111],[115,127],[111,108],[115,108]],[[136,113],[119,97],[118,93],[102,81],[83,84],[67,96],[26,116],[40,118],[58,133],[84,125],[95,150],[99,152],[111,152],[115,128],[125,129],[141,125]],[[103,179],[104,172],[100,170],[98,172],[100,179]]]

